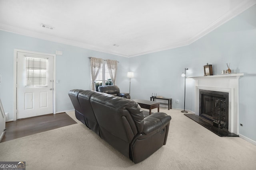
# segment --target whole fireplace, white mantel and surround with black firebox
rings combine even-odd
[[[239,78],[243,75],[188,77],[195,80],[195,115],[206,117],[213,126],[226,126],[230,133],[238,135]],[[202,109],[202,105],[206,108]]]

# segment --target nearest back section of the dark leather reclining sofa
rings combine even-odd
[[[100,130],[126,142],[143,130],[144,115],[133,100],[99,92],[92,95],[91,104]]]

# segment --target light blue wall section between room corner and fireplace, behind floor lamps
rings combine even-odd
[[[132,57],[130,59],[130,70],[134,72],[134,78],[131,80],[132,98],[149,100],[152,93],[156,93],[158,96],[172,98],[173,108],[183,108],[184,77],[181,77],[181,74],[185,67],[190,68],[191,63],[187,62],[190,58],[188,46]],[[189,71],[187,76],[191,75]],[[186,84],[190,84],[189,80]],[[187,96],[189,98],[188,94]],[[176,104],[175,100],[179,100],[179,104]],[[186,106],[188,105],[189,102]]]

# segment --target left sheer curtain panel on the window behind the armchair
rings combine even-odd
[[[95,91],[96,89],[95,89],[94,81],[96,80],[99,74],[100,68],[102,68],[102,59],[91,57],[90,62],[91,62],[91,76],[92,76],[91,90]]]

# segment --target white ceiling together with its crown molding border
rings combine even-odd
[[[256,0],[0,0],[0,29],[133,57],[188,45],[254,4]]]

